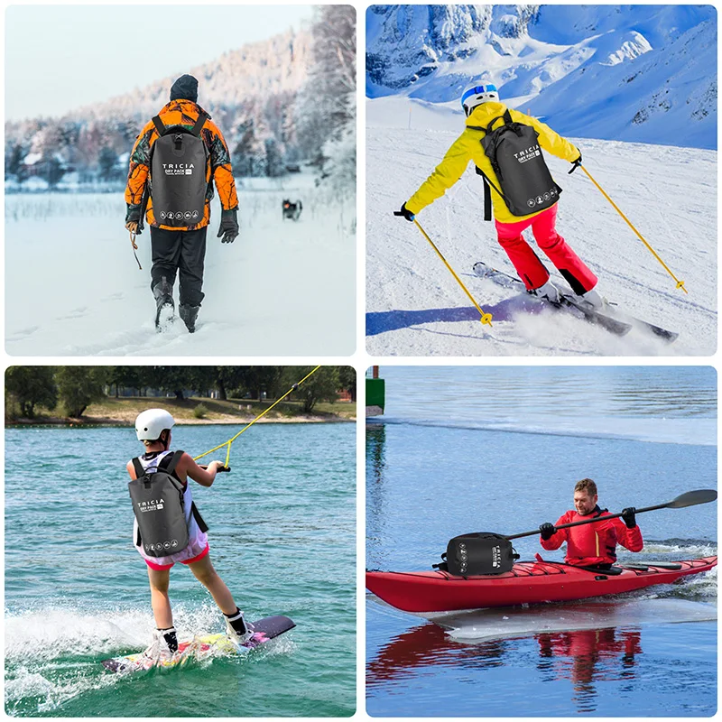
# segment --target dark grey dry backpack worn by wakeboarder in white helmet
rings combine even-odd
[[[140,459],[133,459],[135,478],[128,484],[133,511],[138,522],[138,538],[150,557],[165,557],[184,550],[189,544],[188,523],[183,509],[183,485],[172,476],[182,451],[167,454],[155,471],[145,471]],[[191,506],[201,532],[208,526],[196,505]]]

